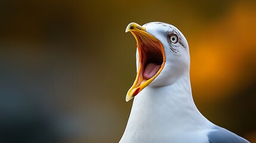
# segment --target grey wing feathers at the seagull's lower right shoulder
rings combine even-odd
[[[209,143],[248,143],[246,139],[219,126],[208,133]]]

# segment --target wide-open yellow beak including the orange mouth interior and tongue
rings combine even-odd
[[[146,88],[164,69],[165,52],[162,43],[137,23],[130,23],[125,32],[131,32],[137,42],[138,71],[136,79],[127,92],[126,101]]]

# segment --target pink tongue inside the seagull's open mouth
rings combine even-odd
[[[154,63],[149,63],[144,69],[143,77],[144,79],[150,79],[151,77],[155,76],[158,70],[161,68],[161,65],[157,65]]]

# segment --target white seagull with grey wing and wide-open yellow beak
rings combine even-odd
[[[137,76],[127,92],[134,98],[120,143],[249,142],[214,125],[196,108],[190,85],[189,45],[171,24],[130,23],[137,41]]]

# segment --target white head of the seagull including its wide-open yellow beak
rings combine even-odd
[[[137,42],[137,76],[126,101],[147,86],[172,85],[184,73],[189,73],[189,45],[176,27],[161,22],[143,26],[130,23],[125,32],[131,32]]]

